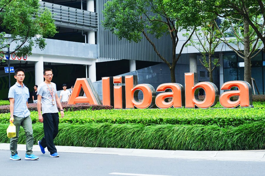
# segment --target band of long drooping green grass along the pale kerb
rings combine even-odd
[[[6,137],[8,124],[0,124],[0,142]],[[34,143],[43,137],[42,124],[33,125]],[[19,142],[25,144],[24,130]],[[265,122],[238,127],[216,125],[150,125],[87,123],[59,124],[55,145],[160,150],[264,150]]]

